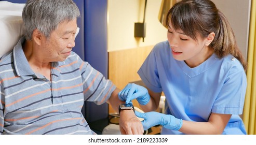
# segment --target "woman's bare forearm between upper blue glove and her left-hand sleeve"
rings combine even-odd
[[[140,107],[144,112],[155,111],[159,106],[161,92],[160,93],[155,93],[155,92],[153,92],[149,89],[147,89],[147,91],[149,92],[149,95],[150,95],[150,101],[146,105],[141,105],[140,104]]]

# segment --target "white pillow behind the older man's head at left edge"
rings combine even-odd
[[[0,57],[13,49],[23,34],[21,14],[24,5],[0,2]]]

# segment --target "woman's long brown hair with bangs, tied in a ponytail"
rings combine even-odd
[[[230,23],[210,0],[183,0],[176,3],[167,14],[167,26],[170,21],[175,30],[182,30],[194,40],[197,33],[205,38],[214,32],[210,49],[220,58],[232,54],[247,69],[247,62],[236,44]]]

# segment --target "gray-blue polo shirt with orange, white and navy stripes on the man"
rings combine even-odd
[[[0,60],[0,134],[95,134],[81,112],[100,105],[116,86],[74,52],[52,62],[51,79],[31,69],[20,39]]]

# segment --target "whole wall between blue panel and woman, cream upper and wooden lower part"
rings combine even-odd
[[[145,0],[109,0],[107,7],[107,51],[109,79],[119,89],[140,80],[138,69],[153,46],[167,40],[167,29],[158,21],[161,1],[147,0],[146,37],[134,38],[134,23],[143,22]],[[139,107],[136,101],[134,106]],[[109,112],[115,112],[109,107]]]

